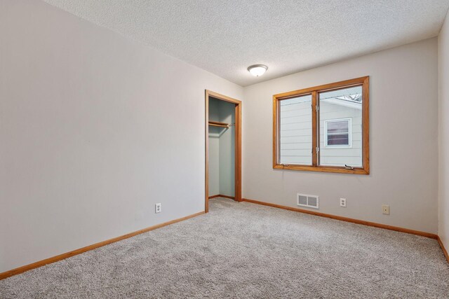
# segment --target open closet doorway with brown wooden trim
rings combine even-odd
[[[241,202],[241,101],[206,90],[206,213],[218,196]]]

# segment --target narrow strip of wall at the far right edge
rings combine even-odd
[[[449,15],[449,13],[448,13]],[[438,36],[440,163],[438,235],[449,250],[449,17]]]

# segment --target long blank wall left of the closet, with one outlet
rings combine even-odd
[[[240,86],[43,1],[0,36],[0,272],[204,210],[204,90]]]

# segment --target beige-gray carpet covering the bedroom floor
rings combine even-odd
[[[4,279],[0,298],[449,298],[449,265],[434,239],[217,198]]]

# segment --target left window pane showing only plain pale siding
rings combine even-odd
[[[311,165],[311,95],[279,102],[279,162]]]

